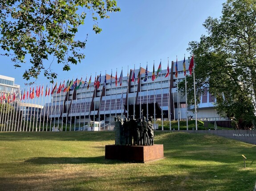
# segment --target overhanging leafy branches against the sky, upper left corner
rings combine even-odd
[[[25,70],[23,78],[37,79],[43,71],[53,82],[57,73],[44,66],[50,55],[58,64],[64,64],[63,70],[70,70],[69,64],[85,58],[80,51],[86,39],[74,38],[87,13],[92,16],[97,34],[102,31],[97,20],[118,11],[116,0],[0,0],[2,55],[11,56],[15,67],[21,67],[29,56],[32,66]]]

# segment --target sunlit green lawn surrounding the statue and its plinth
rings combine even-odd
[[[114,132],[2,132],[0,190],[252,191],[255,185],[252,144],[156,131],[165,158],[146,164],[105,160],[107,144],[114,144]]]

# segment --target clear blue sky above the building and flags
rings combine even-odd
[[[89,14],[85,25],[79,27],[76,39],[85,40],[86,47],[82,52],[85,59],[77,65],[71,65],[71,70],[63,71],[63,64],[53,61],[51,67],[58,74],[57,81],[67,81],[71,78],[82,78],[87,81],[92,74],[94,81],[97,75],[113,75],[118,70],[118,76],[123,69],[127,74],[128,67],[142,67],[153,70],[162,62],[162,70],[169,62],[187,59],[188,43],[199,41],[201,35],[207,35],[203,27],[207,17],[219,18],[222,14],[222,4],[225,0],[117,0],[121,12],[110,13],[109,19],[98,21],[102,28],[100,34],[92,30],[93,22]],[[13,66],[10,57],[0,56],[1,75],[15,78],[15,84],[24,87],[26,81],[22,75],[30,65],[29,62],[20,68]],[[45,61],[49,64],[52,60]],[[39,75],[35,84],[48,84],[49,80],[43,74]]]

